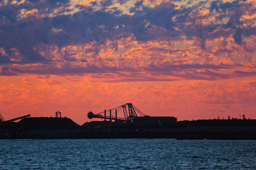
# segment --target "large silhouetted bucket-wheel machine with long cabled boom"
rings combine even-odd
[[[115,110],[115,116],[111,115],[112,110]],[[106,115],[106,112],[109,111],[109,116]],[[124,117],[117,117],[118,111],[123,111]],[[104,115],[103,115],[104,113]],[[145,116],[136,106],[134,106],[132,103],[126,103],[121,106],[118,106],[116,108],[112,108],[110,110],[104,110],[100,113],[94,114],[92,111],[88,112],[88,118],[104,118],[106,121],[107,119],[111,122],[112,120],[115,120],[116,122],[132,122],[133,118],[138,117],[147,117]]]

